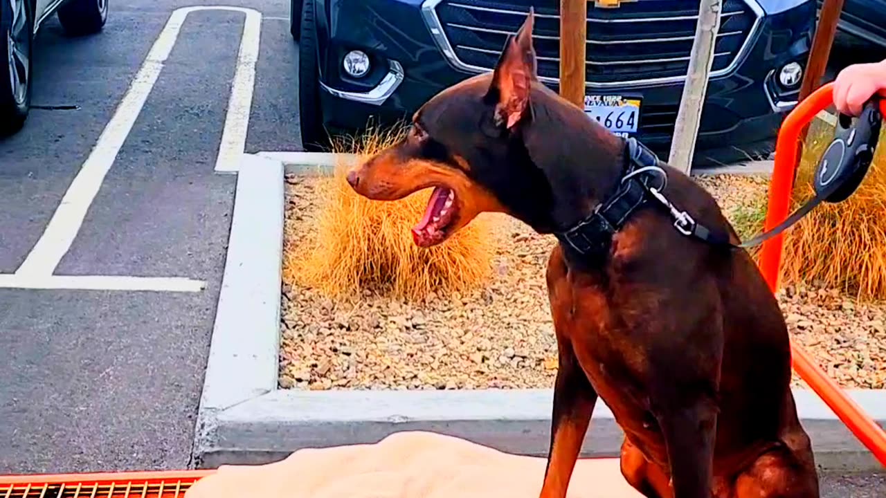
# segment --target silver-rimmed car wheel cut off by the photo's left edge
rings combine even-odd
[[[19,131],[31,106],[34,19],[27,0],[0,2],[0,135]]]

